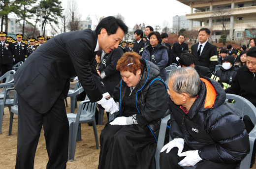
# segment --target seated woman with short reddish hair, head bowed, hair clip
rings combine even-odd
[[[167,90],[154,63],[126,52],[117,62],[122,80],[114,91],[120,116],[100,134],[98,169],[154,169],[160,119]]]

